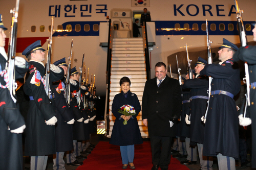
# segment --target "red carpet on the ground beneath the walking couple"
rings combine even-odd
[[[135,145],[134,165],[136,169],[152,168],[153,164],[150,142]],[[77,168],[77,170],[88,169],[122,169],[122,158],[119,146],[109,144],[109,142],[99,142],[92,153],[88,155],[87,159],[83,161],[83,165]],[[127,169],[130,169],[130,167],[128,166]],[[173,157],[170,159],[169,169],[189,170],[188,167],[180,164],[180,161]]]

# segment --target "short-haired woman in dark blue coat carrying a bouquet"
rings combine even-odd
[[[119,84],[122,91],[115,95],[112,104],[112,113],[116,117],[116,120],[113,126],[110,144],[120,146],[123,163],[122,168],[126,169],[129,164],[131,169],[135,169],[133,164],[134,144],[143,143],[136,118],[141,110],[141,106],[137,95],[130,91],[130,79],[123,77]],[[121,109],[123,105],[133,106],[136,111],[136,115],[124,116],[123,114],[118,113],[118,109]],[[127,125],[123,125],[124,120],[127,120]]]

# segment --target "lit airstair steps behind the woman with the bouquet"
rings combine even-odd
[[[115,116],[112,113],[112,102],[116,94],[121,92],[119,81],[122,77],[129,77],[131,80],[131,92],[138,96],[142,104],[142,95],[146,82],[146,65],[142,38],[113,38],[112,61],[111,61],[111,84],[109,118],[111,137]],[[147,128],[143,125],[141,112],[137,116],[142,137],[148,137]]]

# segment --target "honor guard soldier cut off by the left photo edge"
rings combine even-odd
[[[22,134],[25,121],[20,114],[17,103],[11,98],[6,76],[8,57],[5,52],[5,31],[7,28],[2,22],[0,14],[0,167],[5,170],[23,169]],[[22,57],[15,57],[15,78],[23,78],[29,68],[28,62]],[[12,81],[10,78],[9,81]]]

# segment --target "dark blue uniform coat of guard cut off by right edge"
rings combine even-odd
[[[242,60],[248,62],[248,69],[249,69],[249,77],[250,77],[250,83],[256,82],[256,46],[250,46],[247,45],[245,47],[240,47],[239,50],[234,54],[233,56],[234,61]],[[256,83],[254,83],[254,87],[256,86]],[[240,108],[242,113],[243,111],[243,105]],[[256,143],[256,88],[253,88],[253,86],[250,88],[250,106],[249,106],[249,116],[251,117],[251,128],[252,128],[252,143]],[[252,144],[252,158],[253,160],[251,163],[252,168],[256,168],[256,145]]]

